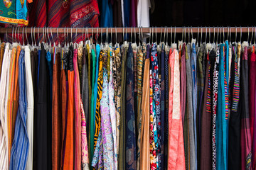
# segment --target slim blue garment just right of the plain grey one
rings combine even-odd
[[[192,73],[192,100],[193,100],[193,126],[195,135],[195,150],[197,151],[197,138],[196,138],[196,110],[197,110],[197,83],[196,83],[196,45],[192,44],[191,52],[191,73]],[[197,152],[195,152],[195,165],[197,169]]]

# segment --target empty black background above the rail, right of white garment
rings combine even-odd
[[[256,25],[255,0],[154,0],[154,4],[150,26]]]

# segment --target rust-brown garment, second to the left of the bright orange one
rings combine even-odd
[[[60,53],[55,55],[53,63],[53,103],[52,103],[52,169],[60,169]]]

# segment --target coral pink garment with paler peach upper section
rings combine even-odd
[[[181,119],[180,72],[178,52],[170,50],[171,84],[169,88],[169,153],[168,169],[186,169]]]

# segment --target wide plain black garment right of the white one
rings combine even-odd
[[[34,115],[33,169],[51,169],[50,84],[46,50],[41,45],[36,114]]]

